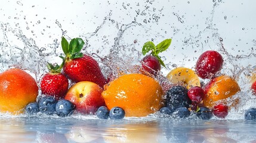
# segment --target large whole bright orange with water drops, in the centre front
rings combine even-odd
[[[127,117],[155,113],[163,105],[162,87],[152,77],[132,73],[120,76],[105,86],[102,92],[109,110],[121,107]]]

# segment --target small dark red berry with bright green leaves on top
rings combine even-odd
[[[171,39],[165,39],[156,46],[151,41],[144,43],[142,54],[146,55],[149,51],[151,51],[151,53],[141,60],[141,69],[153,75],[158,74],[161,70],[161,65],[165,67],[164,61],[161,60],[158,54],[168,49],[170,44]]]

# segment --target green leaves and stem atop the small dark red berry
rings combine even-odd
[[[169,48],[169,45],[171,45],[171,39],[165,39],[161,43],[158,43],[158,45],[156,45],[156,46],[152,41],[149,41],[149,42],[144,43],[143,48],[142,48],[142,54],[146,55],[147,52],[151,51],[150,54],[153,55],[154,57],[158,58],[159,63],[166,68],[164,61],[161,60],[161,58],[159,57],[158,54],[160,52],[166,51],[166,49]]]

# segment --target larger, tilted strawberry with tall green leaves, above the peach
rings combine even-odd
[[[106,79],[101,73],[97,61],[90,55],[82,54],[81,49],[84,41],[81,38],[74,38],[69,42],[63,37],[61,46],[66,57],[63,58],[63,72],[73,82],[90,81],[97,83],[102,88]]]

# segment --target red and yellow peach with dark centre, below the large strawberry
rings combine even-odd
[[[103,89],[94,82],[78,82],[67,91],[64,99],[72,102],[79,113],[94,114],[98,107],[105,105],[101,92]]]

